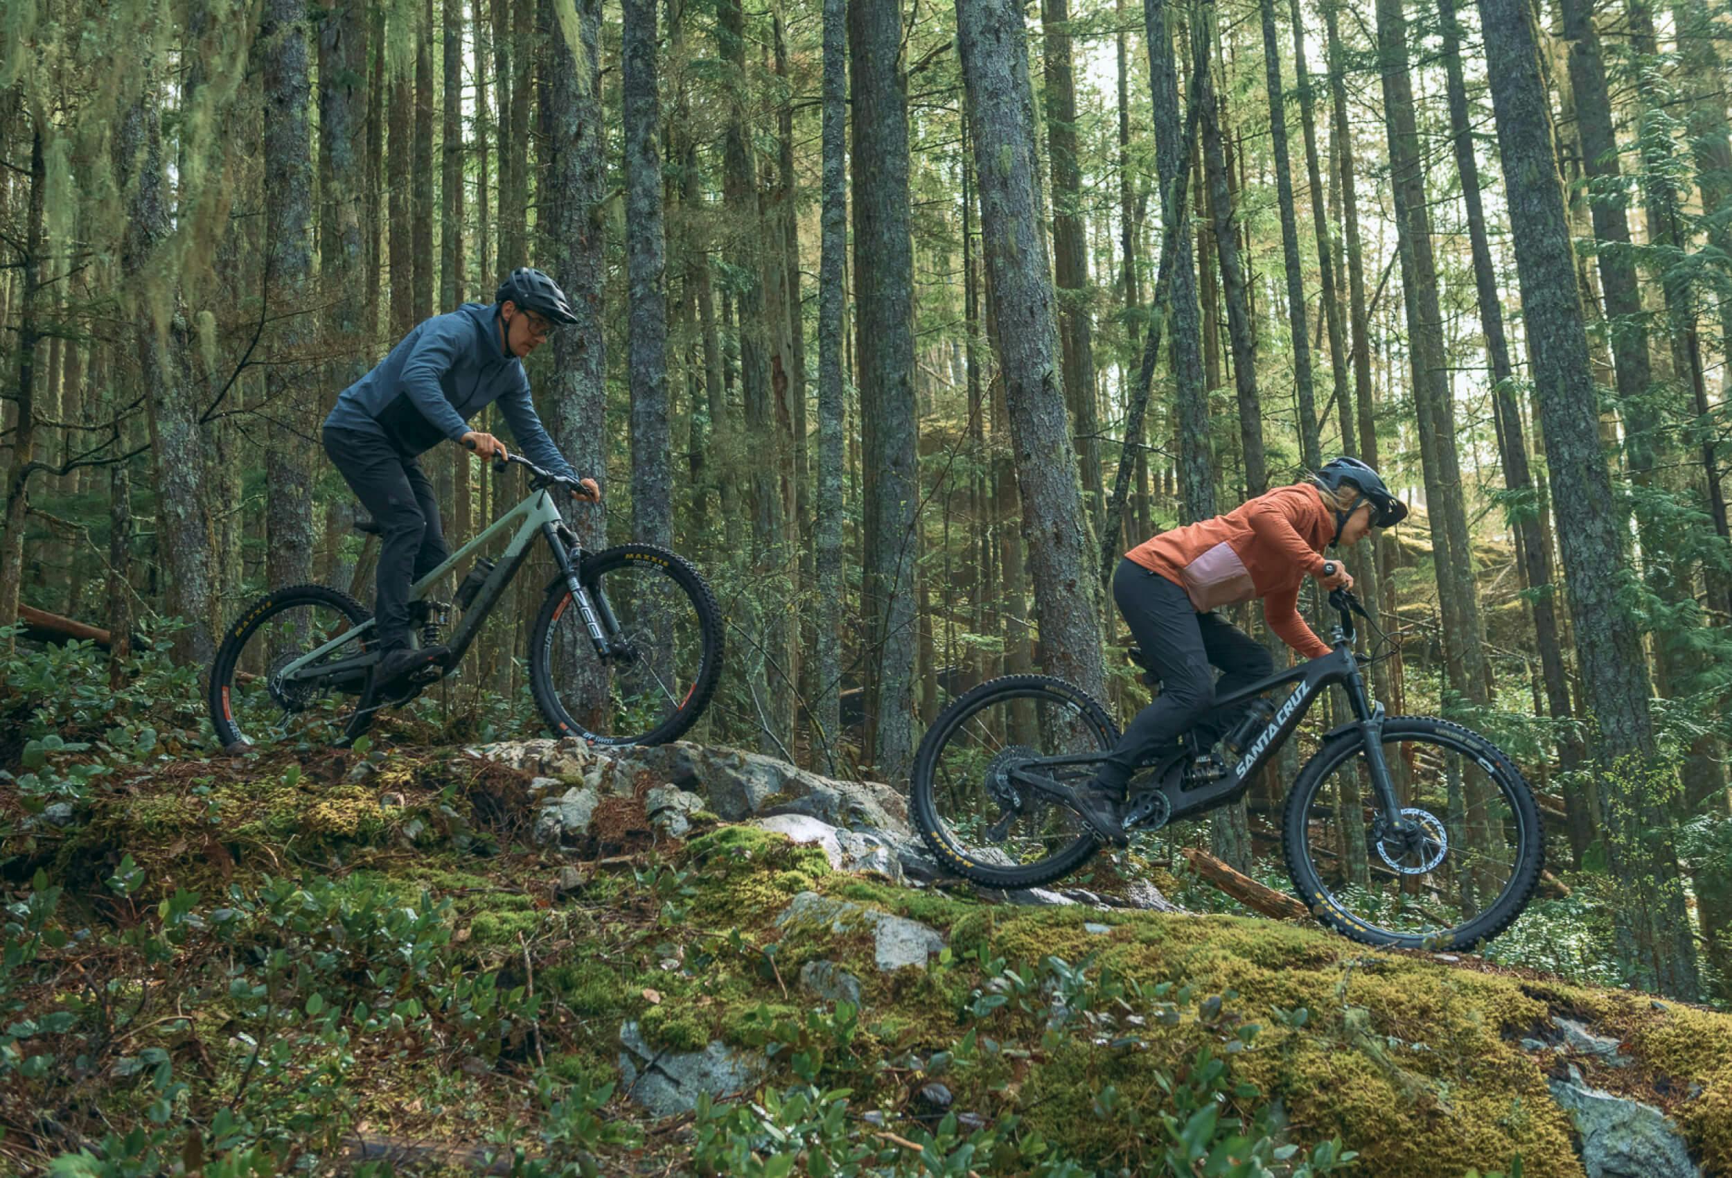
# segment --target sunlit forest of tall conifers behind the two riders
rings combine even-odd
[[[0,764],[78,736],[62,643],[197,755],[242,603],[371,599],[319,423],[537,265],[568,518],[726,610],[696,740],[899,783],[996,674],[1129,715],[1117,553],[1353,454],[1415,508],[1347,556],[1377,698],[1541,793],[1509,960],[1732,1001],[1727,54],[1722,0],[9,0]],[[525,494],[423,463],[454,547]],[[423,740],[539,728],[549,568]],[[1311,741],[1174,837],[1263,870]]]

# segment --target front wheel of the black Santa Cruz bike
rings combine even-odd
[[[1287,797],[1287,870],[1337,932],[1375,946],[1470,949],[1503,932],[1545,864],[1540,807],[1479,733],[1424,715],[1384,722],[1406,833],[1386,826],[1360,736],[1334,741]]]

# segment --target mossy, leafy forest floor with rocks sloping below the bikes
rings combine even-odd
[[[1349,1173],[1574,1178],[1614,1147],[1732,1173],[1722,1013],[1294,923],[987,903],[703,811],[675,838],[644,774],[546,845],[532,785],[442,748],[168,762],[54,821],[3,797],[0,1171],[194,1173],[248,1140],[279,1173],[721,1173],[757,1124],[748,1152],[788,1131],[887,1171],[973,1135],[954,1173],[1150,1173],[1212,1107],[1294,1161],[1339,1136]],[[835,1124],[755,1095],[802,1083]]]

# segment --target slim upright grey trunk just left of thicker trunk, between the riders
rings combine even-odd
[[[814,762],[835,776],[842,740],[842,319],[847,312],[847,0],[824,0],[823,213],[818,274],[818,644]],[[965,165],[966,166],[966,165]],[[966,182],[965,182],[966,184]],[[966,218],[966,191],[963,194]],[[972,296],[972,293],[970,293]],[[970,346],[972,346],[970,340]],[[823,748],[823,761],[816,761]]]

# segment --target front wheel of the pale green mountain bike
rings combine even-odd
[[[622,544],[578,572],[611,651],[572,591],[554,586],[530,634],[530,688],[558,736],[662,745],[698,722],[722,672],[722,612],[698,570],[653,544]]]

